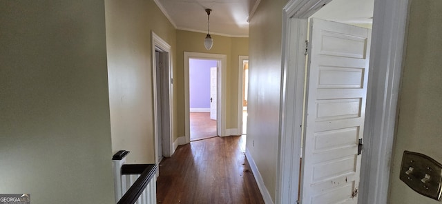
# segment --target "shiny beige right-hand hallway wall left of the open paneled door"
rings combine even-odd
[[[286,3],[262,0],[249,24],[247,150],[273,201],[278,164],[282,8]]]

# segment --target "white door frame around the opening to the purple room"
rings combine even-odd
[[[184,120],[186,143],[191,142],[190,101],[189,101],[189,59],[209,59],[219,62],[218,71],[218,135],[226,135],[226,76],[227,54],[209,54],[201,52],[184,52]]]

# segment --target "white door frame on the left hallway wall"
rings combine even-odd
[[[163,39],[161,39],[155,32],[151,32],[152,34],[152,79],[153,79],[153,124],[154,124],[154,134],[155,134],[155,163],[159,163],[158,161],[158,155],[163,154],[166,157],[172,156],[173,154],[173,65],[172,65],[172,52],[171,52],[171,45],[166,43]],[[169,64],[169,136],[166,136],[163,138],[162,142],[162,152],[158,152],[158,108],[157,108],[157,83],[160,83],[157,81],[157,70],[156,70],[156,63],[159,63],[155,59],[155,50],[160,50],[161,52],[168,52],[168,64]],[[162,106],[166,106],[166,104],[162,104]]]

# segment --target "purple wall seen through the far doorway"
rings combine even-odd
[[[190,108],[210,108],[210,68],[216,61],[189,59]]]

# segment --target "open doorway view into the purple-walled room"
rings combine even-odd
[[[191,141],[218,136],[218,61],[189,59]]]

